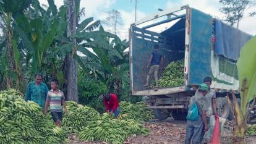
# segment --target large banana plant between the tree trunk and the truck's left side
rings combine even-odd
[[[79,45],[79,51],[87,56],[87,61],[83,62],[93,68],[92,71],[108,86],[109,91],[121,95],[122,83],[129,82],[129,56],[124,54],[127,41],[121,41],[102,27],[98,31],[77,33],[75,36],[77,40],[86,41]],[[92,48],[93,52],[85,48]]]

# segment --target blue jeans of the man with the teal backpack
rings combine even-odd
[[[192,140],[192,144],[200,143],[200,137],[203,130],[203,121],[202,117],[199,117],[197,121],[187,121],[187,129],[186,129],[186,139],[185,144],[190,144]]]

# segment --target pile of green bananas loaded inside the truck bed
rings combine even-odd
[[[159,78],[159,87],[181,87],[184,83],[184,59],[168,64]]]

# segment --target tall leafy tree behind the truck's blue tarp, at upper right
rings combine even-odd
[[[225,14],[224,21],[230,25],[237,23],[236,27],[239,27],[239,22],[244,17],[244,11],[250,6],[252,1],[250,0],[220,0],[223,7],[220,11]],[[254,16],[255,12],[249,13],[249,16]]]

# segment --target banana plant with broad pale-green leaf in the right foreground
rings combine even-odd
[[[233,142],[244,144],[244,136],[247,130],[247,120],[250,111],[255,106],[256,96],[256,36],[249,40],[240,51],[237,60],[237,70],[239,77],[239,90],[241,95],[241,107],[237,103],[233,93],[233,104],[229,101],[229,106],[234,114]]]

